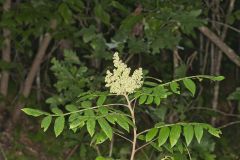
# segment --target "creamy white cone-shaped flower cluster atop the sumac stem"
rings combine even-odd
[[[110,87],[110,93],[130,94],[142,86],[142,68],[135,70],[132,76],[129,76],[131,68],[122,62],[117,52],[113,55],[113,64],[116,69],[113,69],[113,73],[107,70],[105,77],[106,87]]]

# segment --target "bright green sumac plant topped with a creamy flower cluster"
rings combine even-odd
[[[89,91],[80,93],[77,101],[65,105],[65,109],[53,107],[52,113],[32,109],[22,109],[28,115],[43,116],[41,127],[46,131],[54,121],[54,132],[59,136],[64,127],[68,126],[73,132],[86,127],[91,144],[96,145],[106,140],[112,140],[113,135],[119,136],[131,144],[130,160],[138,151],[148,145],[158,148],[173,148],[176,145],[188,146],[194,136],[200,143],[204,131],[215,137],[220,137],[221,131],[209,124],[197,122],[179,122],[166,124],[159,122],[152,128],[142,129],[139,112],[143,107],[161,107],[161,101],[172,94],[181,95],[181,91],[188,90],[192,96],[196,92],[195,81],[209,79],[220,81],[222,76],[198,75],[175,79],[162,83],[161,80],[143,77],[142,68],[132,72],[119,58],[118,53],[113,56],[114,69],[107,71],[105,87],[109,92]],[[136,114],[136,111],[138,114]],[[141,144],[141,145],[140,145]],[[178,147],[181,148],[181,147]],[[104,159],[104,158],[101,158]],[[165,157],[168,159],[168,157]]]

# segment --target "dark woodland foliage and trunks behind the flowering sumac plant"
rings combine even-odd
[[[197,74],[224,75],[226,80],[220,83],[197,84],[194,97],[186,88],[181,89],[182,96],[171,95],[161,102],[143,97],[142,104],[150,101],[155,104],[141,108],[141,114],[136,114],[143,120],[140,122],[143,128],[159,121],[211,123],[222,129],[222,138],[206,135],[201,144],[193,141],[188,147],[192,159],[240,158],[235,136],[240,132],[239,65],[199,29],[207,27],[233,52],[239,53],[239,1],[2,0],[0,3],[2,157],[74,160],[108,155],[111,143],[90,146],[87,129],[74,134],[67,128],[50,125],[55,133],[64,129],[55,138],[52,131],[43,134],[39,127],[46,130],[49,117],[41,125],[40,119],[19,112],[29,106],[59,114],[61,111],[56,107],[65,112],[79,105],[77,97],[81,93],[104,93],[105,72],[112,66],[112,53],[119,51],[129,66],[142,67],[149,76],[164,82]],[[85,102],[81,105],[92,106]],[[154,106],[158,104],[159,107]],[[151,134],[148,138],[152,138]],[[117,144],[114,157],[126,159],[130,146],[117,137],[114,143]],[[184,153],[172,152],[166,146],[160,155],[156,152],[159,148],[152,146],[155,149],[148,147],[137,156],[157,159],[172,155],[175,159],[187,159],[184,146],[176,147]]]

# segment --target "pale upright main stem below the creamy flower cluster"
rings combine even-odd
[[[132,140],[132,152],[131,152],[131,158],[130,160],[134,160],[134,156],[136,153],[136,144],[137,144],[137,127],[136,127],[136,120],[135,120],[135,114],[134,114],[134,108],[131,106],[131,102],[128,98],[127,95],[124,95],[124,97],[127,100],[128,103],[128,109],[131,113],[131,118],[132,118],[132,122],[133,122],[133,140]]]

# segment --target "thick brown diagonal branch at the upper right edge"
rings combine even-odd
[[[202,32],[207,38],[209,38],[226,56],[234,62],[238,67],[240,67],[240,57],[230,48],[226,43],[224,43],[215,33],[213,33],[207,27],[199,27],[200,32]]]

